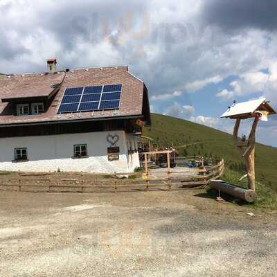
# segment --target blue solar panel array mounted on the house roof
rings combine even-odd
[[[118,109],[121,91],[122,84],[66,89],[57,113]]]

